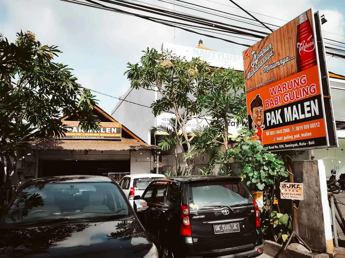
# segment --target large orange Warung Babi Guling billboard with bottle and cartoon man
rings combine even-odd
[[[249,129],[268,150],[328,146],[309,9],[243,52]]]

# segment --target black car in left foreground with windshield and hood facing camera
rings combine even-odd
[[[0,257],[158,258],[120,187],[103,176],[26,182],[4,209],[0,232]]]

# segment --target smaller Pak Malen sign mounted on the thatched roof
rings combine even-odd
[[[79,121],[62,121],[62,125],[68,130],[65,136],[54,138],[63,139],[116,139],[121,140],[121,123],[100,122],[99,131],[84,131],[79,127]]]

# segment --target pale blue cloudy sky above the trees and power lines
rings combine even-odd
[[[174,9],[173,4],[158,0],[140,1]],[[188,2],[248,17],[241,10],[234,8],[228,0]],[[255,12],[253,15],[261,21],[279,26],[313,8],[314,11],[318,10],[320,14],[324,14],[327,19],[322,25],[323,36],[345,42],[343,0],[237,0],[237,3],[246,10]],[[175,6],[175,10],[179,11],[178,7]],[[187,12],[186,9],[184,11]],[[201,15],[194,10],[189,10],[188,13]],[[237,24],[236,21],[213,15],[203,16]],[[241,25],[243,26],[243,23]],[[242,55],[242,51],[246,49],[240,45],[180,29],[174,30],[137,17],[59,0],[0,0],[0,33],[9,41],[14,41],[16,32],[20,30],[34,32],[36,39],[42,44],[59,46],[63,53],[59,54],[55,61],[73,68],[73,73],[82,86],[115,97],[121,97],[129,88],[129,82],[124,76],[127,62],[137,63],[142,55],[141,51],[147,47],[161,49],[162,42],[197,47],[199,39],[202,39],[204,46],[219,52]],[[235,38],[228,39],[241,41]],[[246,43],[248,44],[248,41]],[[330,56],[326,56],[326,59],[329,71],[345,75],[345,60]],[[102,94],[95,95],[99,100],[99,106],[108,113],[118,101]]]

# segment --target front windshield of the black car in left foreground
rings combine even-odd
[[[132,210],[120,188],[111,182],[30,183],[9,204],[1,224],[59,219],[127,217]]]

